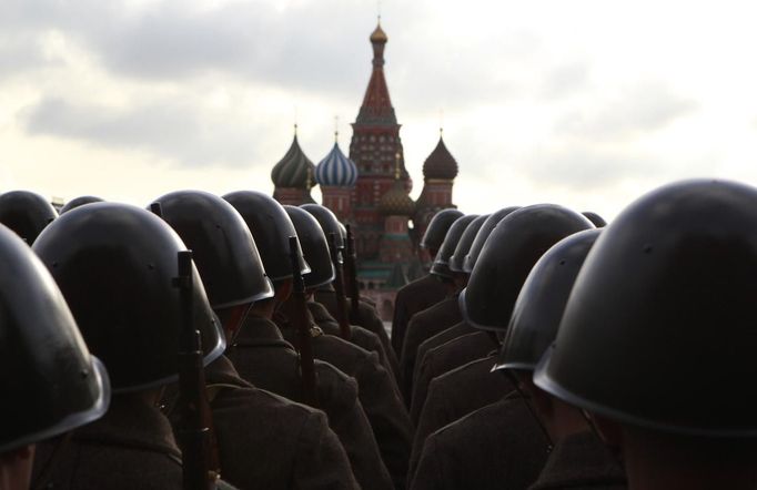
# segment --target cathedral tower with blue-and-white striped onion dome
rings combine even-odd
[[[339,147],[339,132],[334,132],[334,146],[315,167],[315,182],[321,186],[323,205],[341,222],[352,223],[352,190],[357,181],[357,166],[344,156]]]

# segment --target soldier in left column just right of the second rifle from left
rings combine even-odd
[[[311,293],[331,283],[334,267],[326,237],[319,222],[306,211],[284,206],[296,229],[311,273],[305,276],[306,292]],[[293,339],[294,328],[287,315],[295,306],[285,302],[277,315],[284,338]],[[317,328],[317,327],[316,327]],[[369,417],[382,459],[392,476],[395,488],[404,488],[412,442],[412,425],[402,404],[394,378],[381,366],[376,354],[369,353],[334,335],[313,335],[313,353],[317,359],[336,366],[357,380],[359,397]]]

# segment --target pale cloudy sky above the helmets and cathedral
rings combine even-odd
[[[676,178],[757,184],[749,1],[383,0],[405,161],[438,139],[465,212],[557,202],[612,217]],[[0,191],[145,205],[271,192],[300,124],[346,150],[375,0],[2,0]],[[316,193],[314,193],[316,194]]]

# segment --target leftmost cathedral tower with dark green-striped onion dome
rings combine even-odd
[[[273,166],[271,181],[273,181],[273,198],[281,204],[314,203],[310,195],[313,187],[313,172],[315,165],[300,147],[297,141],[297,125],[294,125],[294,139],[286,154]]]

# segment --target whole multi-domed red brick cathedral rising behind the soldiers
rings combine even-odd
[[[282,204],[313,203],[311,188],[321,186],[324,206],[351,224],[359,256],[361,293],[391,319],[396,289],[423,274],[417,244],[431,217],[452,203],[457,162],[440,135],[423,164],[423,190],[417,201],[405,169],[401,124],[384,76],[388,38],[381,23],[371,34],[373,70],[357,119],[352,123],[350,157],[339,141],[317,165],[305,155],[296,134],[289,151],[271,171],[273,197]],[[410,227],[412,222],[413,226]],[[428,261],[433,257],[426,257]]]

